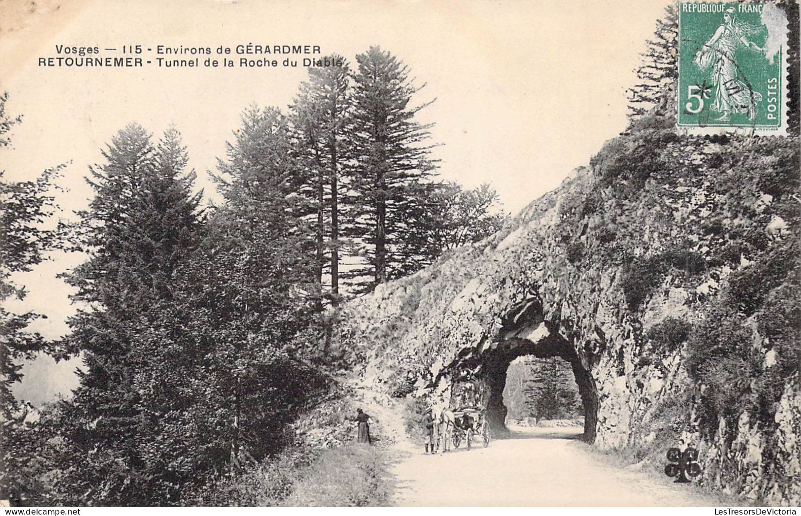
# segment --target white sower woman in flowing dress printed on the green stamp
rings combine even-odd
[[[747,113],[748,119],[755,119],[756,104],[762,102],[762,95],[739,78],[735,50],[743,45],[763,52],[761,46],[747,39],[747,36],[759,34],[761,30],[760,26],[739,22],[735,7],[728,7],[723,13],[723,24],[695,54],[694,62],[698,68],[706,70],[712,67],[710,80],[714,85],[714,102],[710,109],[723,113],[718,121],[730,119],[731,113]]]

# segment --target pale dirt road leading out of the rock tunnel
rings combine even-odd
[[[606,464],[582,429],[534,429],[489,448],[430,456],[415,450],[393,473],[397,506],[722,506],[670,478]],[[464,445],[462,445],[462,448]]]

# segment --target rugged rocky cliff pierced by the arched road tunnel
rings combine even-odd
[[[507,228],[340,313],[360,384],[447,401],[483,387],[500,429],[509,362],[570,361],[585,435],[661,470],[801,503],[799,139],[678,137],[643,119]]]

